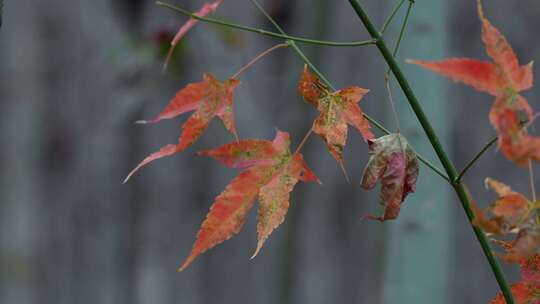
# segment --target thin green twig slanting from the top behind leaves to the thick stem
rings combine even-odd
[[[266,17],[266,19],[268,19],[268,21],[270,21],[270,23],[272,23],[272,25],[274,25],[274,27],[280,32],[282,33],[283,35],[285,35],[285,31],[279,26],[279,24],[277,24],[277,22],[274,20],[274,18],[272,18],[272,16],[270,16],[270,14],[268,14],[268,12],[259,4],[259,2],[257,2],[256,0],[250,0],[251,3],[253,3],[257,9],[259,9],[259,11]],[[326,76],[324,76],[324,74],[313,64],[313,62],[311,62],[311,60],[309,60],[309,58],[306,56],[306,54],[304,54],[304,52],[296,45],[296,43],[294,43],[294,41],[291,41],[291,40],[288,40],[287,41],[287,44],[289,44],[289,46],[293,49],[293,51],[296,53],[296,55],[302,59],[302,61],[304,61],[305,64],[308,65],[308,67],[319,77],[319,79],[321,79],[324,84],[326,84],[329,88],[331,88],[333,91],[336,90],[336,87],[328,80],[328,78],[326,78]],[[367,115],[366,113],[364,113],[364,117],[371,123],[373,124],[376,128],[378,128],[379,130],[381,130],[384,134],[390,134],[391,132],[386,129],[380,122],[378,122],[377,120],[375,120],[374,118],[372,118],[371,116]],[[418,159],[424,163],[428,168],[430,168],[431,170],[433,170],[433,172],[435,172],[437,175],[439,175],[440,177],[442,177],[443,179],[445,179],[446,181],[450,182],[450,179],[448,178],[448,176],[443,172],[443,170],[437,168],[437,166],[435,166],[433,163],[431,163],[429,160],[427,160],[425,157],[423,157],[422,155],[419,155],[417,154],[417,157]]]

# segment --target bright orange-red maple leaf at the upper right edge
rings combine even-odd
[[[519,94],[533,85],[532,62],[520,66],[506,38],[484,16],[480,0],[478,15],[482,22],[482,41],[493,62],[469,58],[408,62],[495,96],[489,118],[499,136],[503,154],[519,165],[527,164],[529,159],[540,161],[540,139],[521,128],[518,116],[523,111],[529,120],[533,117],[528,101]]]

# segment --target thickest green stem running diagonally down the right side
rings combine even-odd
[[[471,203],[469,201],[469,197],[465,190],[465,186],[462,184],[460,180],[457,179],[458,174],[454,167],[454,164],[448,158],[448,155],[446,154],[446,151],[444,150],[439,140],[439,137],[435,133],[435,130],[431,126],[431,123],[428,117],[426,116],[424,110],[422,109],[422,106],[420,102],[418,101],[418,98],[416,98],[416,95],[411,89],[407,81],[407,78],[401,71],[401,68],[399,67],[398,63],[394,59],[392,52],[388,49],[386,43],[384,42],[384,39],[381,37],[381,34],[379,33],[379,31],[377,31],[374,24],[371,22],[371,19],[366,14],[366,12],[362,8],[358,0],[349,0],[349,3],[351,4],[353,10],[356,12],[358,17],[362,21],[362,23],[364,24],[364,27],[369,32],[371,37],[377,41],[375,45],[379,49],[379,52],[385,59],[388,66],[390,67],[390,70],[396,77],[396,80],[399,83],[403,93],[407,97],[407,101],[409,105],[413,109],[420,125],[424,129],[424,132],[426,133],[426,136],[429,139],[429,142],[431,143],[433,149],[435,150],[437,157],[441,161],[446,171],[446,174],[450,178],[450,181],[451,181],[450,184],[454,188],[454,191],[456,192],[461,202],[461,206],[463,207],[463,210],[467,214],[471,228],[473,229],[474,234],[476,235],[476,238],[478,242],[480,243],[480,247],[482,247],[482,251],[484,252],[484,255],[486,256],[486,259],[489,262],[489,265],[495,276],[495,279],[497,280],[497,283],[499,284],[502,294],[504,298],[506,299],[506,303],[514,304],[515,301],[512,296],[512,292],[510,290],[509,284],[504,276],[504,273],[502,272],[502,269],[499,265],[499,262],[497,261],[495,257],[495,254],[493,253],[493,250],[491,249],[489,245],[489,241],[486,235],[480,228],[473,225],[474,213],[471,209]]]

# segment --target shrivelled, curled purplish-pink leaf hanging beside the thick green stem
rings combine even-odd
[[[414,192],[419,168],[416,153],[399,133],[369,140],[369,162],[364,170],[361,186],[373,189],[381,181],[380,198],[385,205],[382,216],[369,219],[386,221],[399,215],[401,203]]]

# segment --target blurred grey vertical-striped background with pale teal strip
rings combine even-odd
[[[170,2],[192,10],[203,3]],[[362,2],[377,24],[394,5]],[[522,63],[540,59],[540,2],[484,2]],[[368,37],[347,1],[262,3],[291,34]],[[345,150],[350,184],[319,138],[307,143],[305,157],[323,185],[296,187],[285,223],[256,259],[249,260],[253,211],[242,233],[177,273],[213,198],[237,174],[195,151],[232,137],[214,122],[195,146],[122,185],[144,156],[176,141],[187,115],[133,122],[153,117],[203,72],[226,78],[279,41],[199,24],[162,73],[163,47],[186,18],[153,1],[7,0],[3,10],[0,303],[488,303],[497,292],[458,201],[426,167],[398,220],[360,221],[382,209],[377,191],[359,187],[367,147],[355,131]],[[389,43],[404,11],[386,34]],[[247,0],[225,1],[216,16],[271,29]],[[395,129],[386,66],[374,47],[301,47],[337,87],[371,89],[364,110]],[[461,168],[494,135],[491,97],[404,63],[447,56],[487,58],[475,1],[416,0],[399,61]],[[302,65],[281,49],[242,76],[242,137],[270,139],[279,128],[298,144],[317,115],[296,93]],[[391,86],[401,132],[438,163],[395,81]],[[526,93],[535,109],[537,92]],[[481,205],[494,198],[483,187],[487,176],[529,193],[527,172],[493,149],[466,177]],[[515,267],[505,271],[517,278]]]

